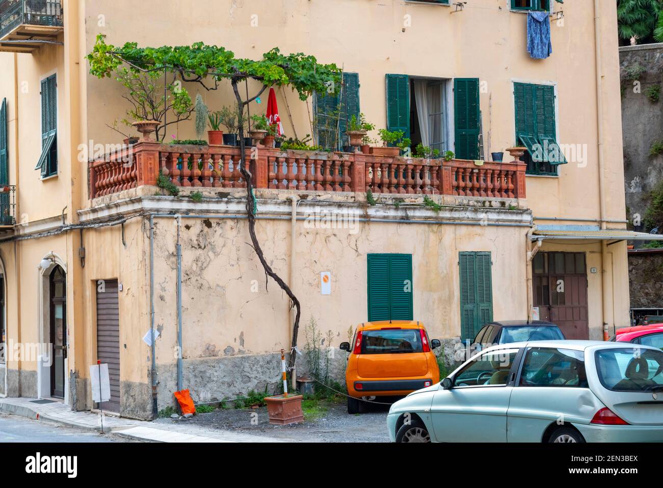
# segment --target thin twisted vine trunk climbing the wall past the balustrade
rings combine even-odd
[[[244,107],[249,104],[251,100],[254,100],[258,96],[260,96],[267,86],[263,86],[263,89],[257,96],[255,96],[251,100],[242,100],[240,94],[239,94],[239,89],[237,88],[237,83],[240,80],[238,78],[233,78],[232,79],[232,85],[233,85],[233,92],[235,92],[235,98],[237,98],[237,122],[239,125],[239,154],[240,154],[240,159],[239,159],[239,172],[241,173],[244,181],[247,184],[247,216],[249,217],[249,235],[251,236],[251,242],[253,243],[253,250],[255,250],[255,254],[257,254],[258,259],[260,260],[260,263],[263,265],[263,269],[265,270],[265,289],[267,289],[267,282],[269,278],[272,278],[278,284],[280,289],[286,292],[288,297],[290,298],[290,308],[296,307],[296,315],[294,319],[294,325],[292,327],[292,343],[290,345],[290,361],[288,361],[288,368],[292,371],[292,368],[294,368],[296,358],[297,358],[297,353],[295,351],[295,347],[297,345],[297,333],[299,331],[299,319],[300,316],[302,315],[302,309],[301,305],[299,303],[299,300],[297,297],[292,293],[292,290],[272,270],[271,266],[267,264],[267,261],[265,260],[265,254],[263,254],[263,248],[260,246],[260,242],[258,241],[258,238],[255,234],[255,195],[253,195],[253,180],[251,179],[251,172],[249,169],[247,169],[247,165],[245,163],[246,159],[246,145],[244,143]],[[294,238],[294,236],[293,236]],[[269,278],[268,278],[269,277]]]

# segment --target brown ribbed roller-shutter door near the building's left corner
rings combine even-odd
[[[120,321],[117,280],[97,282],[97,359],[108,365],[111,400],[103,410],[120,411]]]

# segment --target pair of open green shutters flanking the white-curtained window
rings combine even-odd
[[[479,78],[453,80],[455,157],[479,159]],[[410,77],[387,74],[387,129],[410,137]]]

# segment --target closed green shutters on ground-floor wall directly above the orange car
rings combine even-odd
[[[412,320],[412,254],[369,254],[369,321]]]

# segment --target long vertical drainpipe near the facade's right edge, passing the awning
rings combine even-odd
[[[596,118],[597,136],[599,149],[599,207],[601,211],[601,229],[606,228],[605,212],[605,188],[603,178],[605,175],[605,161],[603,159],[603,76],[601,75],[601,15],[599,7],[600,0],[594,0],[594,44],[596,64]],[[608,256],[607,244],[601,241],[601,288],[603,294],[603,340],[607,341],[609,322],[614,321],[611,317],[611,303],[608,301],[608,289],[610,282],[607,274]]]

